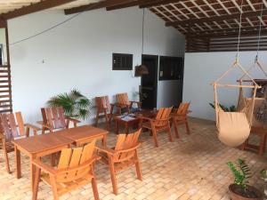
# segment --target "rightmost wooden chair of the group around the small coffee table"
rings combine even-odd
[[[190,134],[187,115],[189,113],[190,102],[181,103],[176,112],[172,116],[172,124],[174,124],[174,132],[176,138],[179,138],[178,126],[185,124],[187,134]]]

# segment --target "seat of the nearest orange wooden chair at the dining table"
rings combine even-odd
[[[60,182],[60,183],[57,182],[56,187],[58,189],[59,196],[65,193],[68,193],[70,190],[74,188],[79,188],[80,186],[85,185],[86,183],[91,181],[92,178],[93,176],[88,173],[84,178],[81,178],[81,179],[73,180],[70,182]],[[48,173],[42,172],[41,180],[43,180],[46,184],[51,185],[51,181],[50,181]]]

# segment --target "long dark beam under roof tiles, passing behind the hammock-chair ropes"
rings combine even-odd
[[[267,15],[267,11],[263,11],[263,15]],[[242,18],[251,18],[251,17],[257,17],[261,16],[261,11],[257,12],[244,12],[242,14]],[[169,26],[185,26],[185,25],[190,25],[190,24],[199,24],[199,23],[209,23],[209,22],[218,22],[218,21],[223,21],[223,20],[234,20],[234,19],[239,19],[240,14],[226,14],[226,15],[221,15],[221,16],[214,16],[214,17],[209,17],[209,18],[200,18],[200,19],[190,19],[190,20],[176,20],[176,21],[168,21],[166,22],[166,27]]]

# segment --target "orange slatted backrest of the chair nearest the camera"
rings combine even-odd
[[[92,174],[91,163],[95,140],[81,148],[64,148],[57,167],[60,172],[56,176],[57,182],[69,182],[85,178],[88,173]],[[88,163],[89,162],[89,163]]]

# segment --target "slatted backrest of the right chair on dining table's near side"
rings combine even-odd
[[[114,156],[114,162],[119,163],[130,160],[134,156],[136,148],[132,150],[131,148],[137,147],[140,133],[141,129],[134,133],[117,135],[115,150],[118,151],[118,153],[116,156]],[[130,150],[127,151],[127,149]],[[119,151],[124,152],[119,153]]]

